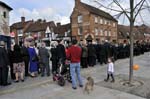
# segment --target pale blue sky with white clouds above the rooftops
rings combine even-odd
[[[66,24],[70,22],[70,15],[74,7],[74,0],[1,0],[11,6],[13,10],[10,12],[10,24],[19,22],[21,16],[25,16],[26,20],[37,20],[39,18],[47,21],[61,22]],[[81,0],[87,4],[98,7],[92,0]],[[126,1],[126,0],[123,0]],[[126,7],[128,4],[123,3]],[[103,9],[107,11],[106,9]],[[108,12],[108,11],[107,11]],[[109,12],[114,15],[114,12]],[[143,19],[147,24],[150,23],[150,13],[142,13]],[[127,24],[128,20],[123,22],[123,17],[118,19],[119,23]],[[137,24],[141,24],[141,18],[137,18]]]

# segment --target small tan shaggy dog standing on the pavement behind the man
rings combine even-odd
[[[90,94],[90,91],[93,91],[94,79],[92,77],[87,78],[87,83],[85,84],[84,92]]]

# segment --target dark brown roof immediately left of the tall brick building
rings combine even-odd
[[[70,31],[70,30],[71,30],[71,24],[68,23],[65,25],[57,26],[54,31],[56,34],[58,34],[58,37],[64,37],[65,33]],[[67,36],[71,36],[71,34],[69,33],[69,35],[67,35]]]

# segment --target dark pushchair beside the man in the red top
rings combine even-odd
[[[66,80],[71,82],[69,62],[66,61],[64,65],[59,62],[57,73],[53,74],[53,81],[57,81],[58,85],[64,86]]]

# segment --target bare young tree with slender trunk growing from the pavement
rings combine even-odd
[[[138,15],[140,15],[141,11],[147,9],[150,11],[149,1],[147,0],[92,0],[96,2],[100,7],[103,7],[110,11],[117,12],[117,16],[120,17],[121,15],[125,15],[130,23],[130,65],[129,65],[129,83],[131,84],[133,79],[133,27],[135,20]],[[125,7],[125,5],[129,4],[129,8]],[[104,5],[104,4],[107,4]]]

